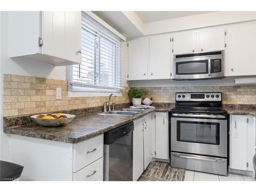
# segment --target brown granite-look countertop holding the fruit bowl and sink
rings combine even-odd
[[[113,130],[118,126],[129,123],[153,111],[168,112],[170,108],[147,109],[133,117],[98,115],[97,113],[80,115],[76,116],[73,121],[63,127],[45,127],[38,124],[30,124],[4,127],[4,132],[53,141],[78,143],[82,140]]]

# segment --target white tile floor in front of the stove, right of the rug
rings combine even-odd
[[[194,170],[186,170],[184,181],[256,181],[252,177],[242,174],[230,174],[227,176],[207,174],[195,172]]]

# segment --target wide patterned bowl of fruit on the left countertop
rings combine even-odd
[[[36,123],[43,126],[63,126],[72,121],[75,115],[71,114],[40,114],[30,116]]]

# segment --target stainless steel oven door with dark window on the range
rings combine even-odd
[[[171,151],[227,157],[227,120],[171,119]]]

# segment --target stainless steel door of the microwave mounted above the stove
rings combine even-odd
[[[210,57],[194,57],[174,60],[175,79],[211,78]]]

